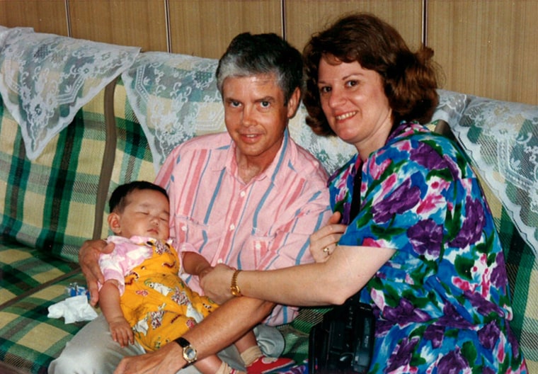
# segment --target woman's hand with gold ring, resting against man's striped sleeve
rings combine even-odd
[[[326,226],[310,235],[310,254],[314,257],[314,261],[327,261],[338,245],[340,237],[347,228],[346,225],[338,223],[340,219],[340,212],[334,212],[328,219]]]

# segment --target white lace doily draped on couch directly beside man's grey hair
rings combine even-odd
[[[156,171],[176,145],[195,135],[226,130],[214,77],[217,63],[189,55],[144,52],[122,74]]]

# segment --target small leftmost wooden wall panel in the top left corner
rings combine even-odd
[[[60,0],[0,0],[0,25],[31,27],[36,33],[67,36],[65,3]]]

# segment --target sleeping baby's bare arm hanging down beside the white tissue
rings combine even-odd
[[[124,347],[133,344],[135,336],[132,329],[123,316],[120,307],[120,290],[116,280],[107,280],[101,290],[99,290],[99,307],[105,316],[112,339]]]

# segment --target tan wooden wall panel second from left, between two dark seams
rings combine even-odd
[[[73,38],[167,51],[164,0],[69,0]]]

